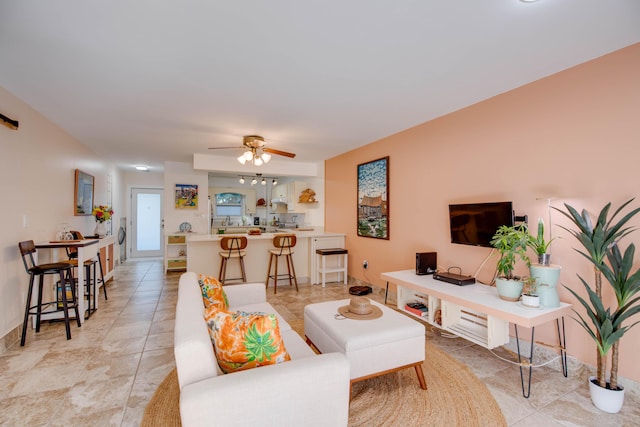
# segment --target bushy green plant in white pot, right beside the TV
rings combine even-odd
[[[493,236],[491,245],[500,254],[497,263],[496,288],[498,296],[505,301],[518,301],[524,287],[523,278],[516,276],[514,270],[518,261],[531,265],[527,255],[529,232],[525,224],[503,225]]]

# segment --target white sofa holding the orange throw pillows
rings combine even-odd
[[[346,426],[349,362],[315,354],[266,301],[264,283],[224,287],[231,310],[275,313],[291,361],[222,374],[204,321],[198,275],[180,277],[174,354],[180,417],[189,426]]]

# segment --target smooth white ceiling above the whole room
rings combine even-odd
[[[638,0],[0,0],[0,85],[122,166],[308,162],[637,42]]]

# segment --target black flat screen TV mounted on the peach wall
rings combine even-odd
[[[496,230],[513,224],[512,202],[449,205],[451,243],[490,248]]]

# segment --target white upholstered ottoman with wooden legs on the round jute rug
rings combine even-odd
[[[321,353],[346,354],[351,367],[351,383],[413,367],[420,387],[426,390],[422,372],[424,325],[375,301],[371,304],[380,307],[381,317],[371,320],[336,318],[338,307],[349,305],[348,299],[305,306],[307,343]]]

